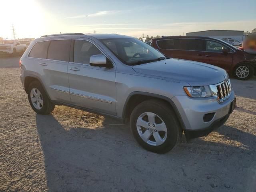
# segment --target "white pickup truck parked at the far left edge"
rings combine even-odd
[[[14,40],[2,40],[0,43],[0,54],[22,54],[26,50],[26,46],[20,44],[16,39]]]

